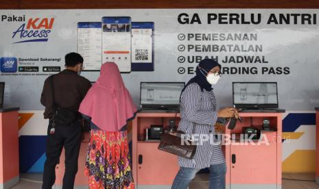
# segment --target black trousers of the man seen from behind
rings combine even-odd
[[[56,181],[56,164],[60,161],[62,148],[65,151],[65,172],[63,177],[63,189],[72,189],[75,175],[78,172],[78,157],[80,153],[82,126],[80,121],[74,121],[71,125],[59,125],[56,123],[54,134],[50,134],[51,123],[47,128],[47,160],[43,173],[43,189],[51,189]],[[63,162],[61,162],[63,163]]]

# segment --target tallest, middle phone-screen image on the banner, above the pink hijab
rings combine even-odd
[[[131,71],[131,18],[102,18],[102,62],[115,62],[122,73]]]

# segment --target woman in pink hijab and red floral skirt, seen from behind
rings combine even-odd
[[[85,166],[89,188],[134,188],[126,127],[137,108],[114,62],[102,65],[79,112],[91,119]]]

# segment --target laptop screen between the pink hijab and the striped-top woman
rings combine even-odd
[[[177,109],[185,82],[141,82],[140,108]]]

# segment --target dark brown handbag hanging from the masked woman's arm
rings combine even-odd
[[[177,112],[175,115],[175,119]],[[192,129],[193,134],[194,127]],[[191,140],[182,139],[181,135],[185,134],[183,131],[175,131],[164,133],[161,138],[161,142],[158,145],[158,149],[161,151],[166,151],[180,157],[185,157],[187,159],[193,159],[196,153],[196,144],[193,144]],[[184,140],[184,144],[182,144]]]

